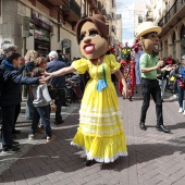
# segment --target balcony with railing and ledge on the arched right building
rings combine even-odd
[[[166,33],[173,27],[181,18],[184,17],[185,12],[185,0],[176,0],[172,8],[159,21],[158,26],[162,27],[163,30],[160,35]]]

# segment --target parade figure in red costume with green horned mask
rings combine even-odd
[[[119,45],[119,48],[121,49],[121,67],[120,71],[122,72],[123,76],[126,79],[128,90],[130,90],[130,101],[132,101],[132,97],[134,95],[134,87],[135,87],[135,66],[134,62],[131,58],[131,51],[132,48],[127,46],[127,42],[125,44],[125,47],[122,47]],[[119,82],[119,90],[122,94],[122,83]]]

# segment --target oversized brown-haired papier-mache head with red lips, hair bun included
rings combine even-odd
[[[76,38],[86,59],[98,59],[109,50],[106,18],[100,14],[81,18],[76,25]]]

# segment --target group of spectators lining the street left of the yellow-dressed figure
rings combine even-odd
[[[55,112],[55,125],[64,121],[61,115],[62,104],[65,103],[65,76],[50,79],[44,78],[44,73],[54,72],[69,65],[69,55],[62,57],[61,50],[51,51],[48,58],[35,50],[28,50],[24,58],[16,52],[17,47],[11,42],[2,45],[0,63],[0,122],[2,152],[16,152],[18,143],[14,140],[16,134],[15,123],[21,112],[22,88],[26,89],[27,101],[25,119],[32,120],[29,139],[35,139],[35,134],[46,132],[47,141],[55,138],[51,134],[50,112]],[[55,97],[50,95],[50,87],[54,88]]]

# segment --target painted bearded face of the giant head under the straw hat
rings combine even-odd
[[[148,54],[158,55],[159,37],[157,33],[149,33],[147,38],[141,37],[141,47]]]

